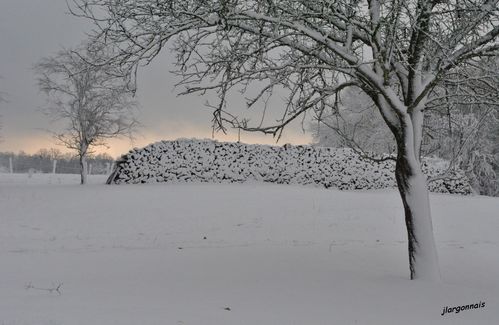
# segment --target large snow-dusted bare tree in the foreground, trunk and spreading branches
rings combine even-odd
[[[215,92],[221,130],[229,123],[279,136],[306,112],[336,109],[342,90],[361,89],[397,143],[411,279],[440,278],[420,166],[424,111],[460,67],[497,56],[498,0],[72,0],[71,10],[95,23],[95,43],[119,49],[114,62],[132,82],[172,40],[183,93]],[[237,119],[227,109],[233,91],[249,107],[286,91],[282,118]]]

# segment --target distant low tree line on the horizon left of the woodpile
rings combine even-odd
[[[80,160],[77,155],[63,153],[59,149],[41,149],[34,154],[27,154],[24,151],[19,153],[0,152],[0,172],[10,172],[12,161],[12,171],[14,173],[52,173],[57,174],[79,174]],[[90,154],[87,160],[88,168],[92,174],[106,174],[109,172],[114,159],[106,154]]]

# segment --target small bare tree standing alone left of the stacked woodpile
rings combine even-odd
[[[126,82],[109,65],[94,65],[109,53],[103,48],[61,50],[35,65],[39,88],[47,94],[47,114],[67,123],[54,137],[80,160],[81,184],[87,181],[86,158],[96,146],[120,136],[132,136],[137,126],[136,102]]]

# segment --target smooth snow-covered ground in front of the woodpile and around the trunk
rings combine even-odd
[[[104,180],[0,174],[1,325],[499,324],[498,198],[431,195],[431,284],[395,190]]]

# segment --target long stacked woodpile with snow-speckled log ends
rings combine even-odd
[[[131,150],[117,161],[108,184],[261,181],[368,190],[395,187],[394,168],[391,160],[362,159],[351,149],[182,139]],[[423,160],[423,171],[430,177],[444,168],[442,161]],[[431,182],[429,189],[471,193],[462,172]]]

